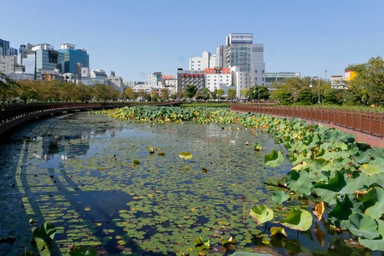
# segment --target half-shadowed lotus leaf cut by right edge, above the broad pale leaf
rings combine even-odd
[[[373,219],[379,219],[384,214],[384,190],[381,187],[374,187],[362,198],[365,214]]]

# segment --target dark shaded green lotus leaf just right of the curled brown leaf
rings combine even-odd
[[[349,229],[350,221],[348,217],[361,212],[362,208],[363,204],[360,200],[348,194],[342,201],[337,200],[335,207],[328,214],[328,219],[338,228]]]

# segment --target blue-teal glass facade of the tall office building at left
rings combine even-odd
[[[89,68],[89,56],[86,51],[70,48],[56,51],[64,54],[64,73],[76,74],[76,63],[81,63],[83,68]]]

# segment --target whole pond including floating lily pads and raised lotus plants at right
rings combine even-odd
[[[225,109],[105,113],[116,119],[44,119],[14,134],[33,143],[0,145],[0,238],[15,237],[1,252],[24,252],[30,219],[55,225],[53,254],[382,250],[380,149],[297,119]]]

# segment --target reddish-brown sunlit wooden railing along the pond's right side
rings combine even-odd
[[[252,112],[282,117],[296,117],[314,122],[328,123],[359,133],[384,138],[384,113],[333,109],[311,109],[293,106],[231,104],[232,111]]]

